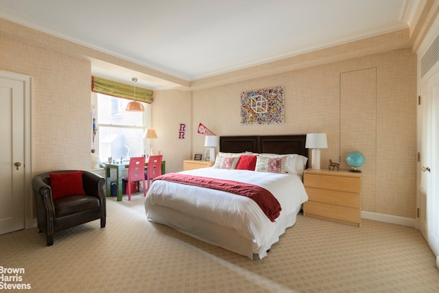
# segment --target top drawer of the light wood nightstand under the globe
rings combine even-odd
[[[361,193],[361,178],[358,177],[305,174],[304,181],[305,187]]]

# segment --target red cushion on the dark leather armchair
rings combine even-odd
[[[50,173],[49,176],[52,198],[84,196],[85,191],[82,187],[82,171]]]

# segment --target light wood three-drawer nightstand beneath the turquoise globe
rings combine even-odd
[[[306,169],[303,215],[360,226],[361,173]]]

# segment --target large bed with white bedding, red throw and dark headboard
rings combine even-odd
[[[238,181],[242,186],[268,191],[280,204],[280,210],[276,211],[273,208],[267,211],[257,200],[218,190],[216,187],[211,189],[163,178],[154,180],[147,191],[147,220],[164,224],[250,259],[254,259],[255,255],[263,259],[271,246],[285,233],[285,229],[295,224],[302,203],[308,199],[300,173],[300,169],[305,169],[307,164],[305,138],[305,134],[220,137],[219,154],[213,167],[164,175],[178,178],[184,176],[189,178],[188,180],[215,178],[226,180],[225,183]],[[282,172],[235,169],[244,156],[249,158],[255,154],[259,154],[256,157],[259,160],[256,166],[259,171],[261,166],[266,165],[262,164],[263,159],[270,157],[276,158],[274,161],[277,160],[278,163],[281,162],[278,167],[282,166]],[[224,161],[233,158],[230,162],[235,165],[230,166],[230,169],[218,167],[219,163],[228,165],[222,162],[221,158]],[[270,162],[272,161],[270,159]],[[300,166],[298,172],[292,170],[292,162],[294,166]],[[259,191],[257,194],[260,196]],[[270,214],[270,218],[269,213],[276,215]]]

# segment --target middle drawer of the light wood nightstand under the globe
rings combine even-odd
[[[353,207],[355,209],[361,208],[360,194],[313,187],[305,187],[305,189],[310,201],[335,204],[342,207]]]

